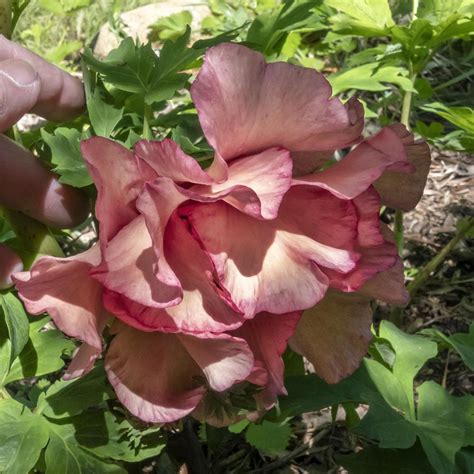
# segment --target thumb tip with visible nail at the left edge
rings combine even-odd
[[[40,88],[39,77],[27,62],[0,62],[0,131],[10,128],[35,106]]]

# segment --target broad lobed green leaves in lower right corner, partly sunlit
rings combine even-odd
[[[456,454],[474,443],[474,397],[454,397],[432,381],[414,387],[421,367],[437,354],[434,342],[405,334],[386,321],[376,341],[390,344],[395,354],[392,366],[379,353],[378,358],[364,359],[359,370],[337,385],[327,385],[316,376],[290,377],[289,396],[280,401],[282,416],[345,402],[364,403],[369,411],[354,427],[355,433],[378,441],[384,449],[408,449],[419,439],[434,470],[451,472]],[[373,346],[371,353],[375,351]]]

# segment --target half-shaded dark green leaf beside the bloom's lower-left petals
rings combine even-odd
[[[38,410],[51,418],[70,417],[109,398],[103,366],[75,380],[55,382],[46,392]]]

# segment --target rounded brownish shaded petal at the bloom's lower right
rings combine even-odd
[[[337,383],[354,372],[366,355],[371,324],[368,298],[329,290],[322,301],[303,313],[290,346],[326,382]]]

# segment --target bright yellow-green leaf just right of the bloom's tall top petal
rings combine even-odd
[[[404,91],[416,92],[407,77],[408,71],[402,67],[380,66],[379,63],[363,64],[347,71],[332,74],[328,77],[333,88],[333,95],[349,89],[366,91],[383,91],[389,89],[384,82],[396,84]]]

